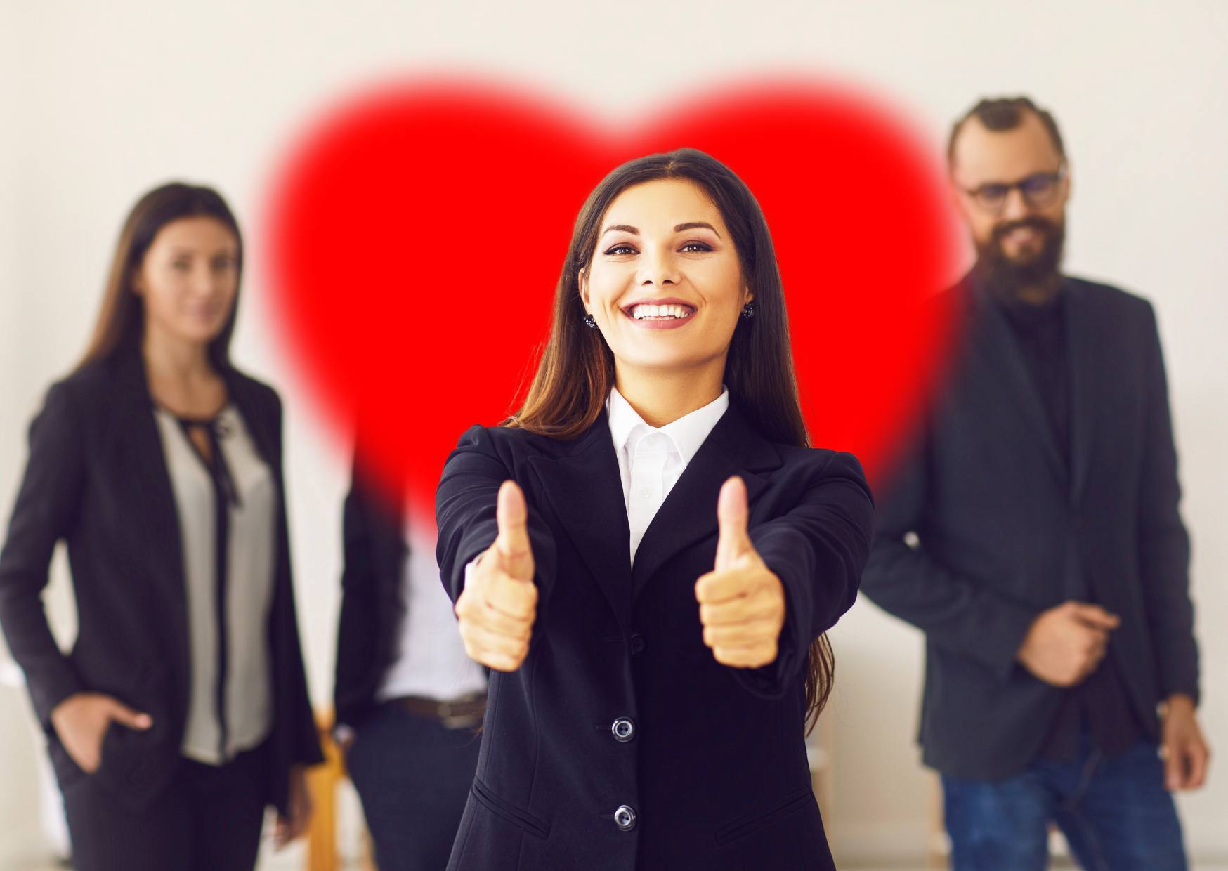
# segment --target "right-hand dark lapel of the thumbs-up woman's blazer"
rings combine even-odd
[[[742,475],[753,509],[768,485],[756,472],[776,468],[780,463],[776,450],[750,429],[731,403],[645,531],[631,569],[632,596],[640,595],[666,561],[696,542],[712,537],[715,558],[716,498],[721,485],[731,475]]]

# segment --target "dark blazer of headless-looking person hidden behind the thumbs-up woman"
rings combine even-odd
[[[355,461],[341,517],[345,568],[336,630],[336,722],[359,726],[376,708],[379,681],[397,655],[405,614],[402,579],[409,547],[399,506],[379,498]]]

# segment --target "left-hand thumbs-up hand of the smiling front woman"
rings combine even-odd
[[[457,619],[465,652],[475,662],[497,671],[521,667],[529,652],[537,619],[533,550],[527,527],[528,509],[516,482],[499,488],[499,537],[474,566],[457,600]]]

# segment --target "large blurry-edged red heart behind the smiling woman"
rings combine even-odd
[[[686,100],[610,131],[464,81],[381,88],[314,122],[273,187],[289,346],[389,495],[427,517],[474,423],[518,408],[571,226],[616,165],[682,146],[754,192],[772,231],[812,442],[873,480],[932,388],[953,318],[917,303],[957,246],[935,160],[874,101],[814,82]]]

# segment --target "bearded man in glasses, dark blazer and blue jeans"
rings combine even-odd
[[[921,744],[955,869],[1185,867],[1202,784],[1189,539],[1152,306],[1060,270],[1054,118],[982,100],[952,129],[976,247],[949,381],[879,505],[863,590],[926,634]]]

